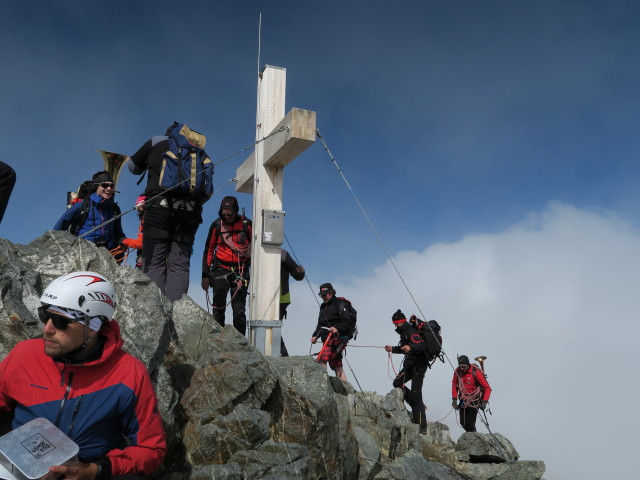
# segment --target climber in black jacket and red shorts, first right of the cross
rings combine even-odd
[[[342,353],[347,348],[349,340],[357,335],[358,312],[349,300],[336,297],[336,291],[330,283],[320,285],[318,295],[322,298],[322,305],[320,305],[318,323],[311,335],[311,343],[316,343],[318,338],[323,342],[317,362],[325,368],[329,364],[336,372],[336,377],[346,382],[347,376],[342,367]]]

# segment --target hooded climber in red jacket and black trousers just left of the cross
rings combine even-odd
[[[238,215],[238,199],[227,196],[220,202],[217,218],[209,227],[202,254],[202,289],[213,288],[213,318],[225,324],[227,295],[231,292],[233,326],[247,331],[245,313],[251,264],[251,220]]]

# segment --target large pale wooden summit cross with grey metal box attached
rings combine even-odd
[[[316,138],[316,113],[285,108],[286,69],[267,65],[258,79],[256,145],[236,171],[236,191],[253,193],[250,320],[251,343],[264,355],[280,356],[280,248],[284,237],[284,167]],[[266,219],[266,222],[265,222]],[[267,228],[265,229],[265,223]]]

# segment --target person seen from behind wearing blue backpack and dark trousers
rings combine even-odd
[[[143,271],[171,301],[189,290],[189,267],[202,205],[213,195],[207,139],[174,122],[131,156],[134,175],[148,173],[142,227]],[[140,178],[140,181],[144,175]]]

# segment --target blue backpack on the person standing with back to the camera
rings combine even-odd
[[[184,123],[173,122],[167,130],[170,150],[164,153],[160,187],[175,197],[199,200],[213,195],[213,163],[204,151],[207,139]]]

